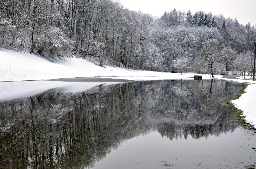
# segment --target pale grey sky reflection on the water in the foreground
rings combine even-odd
[[[166,168],[160,161],[178,168],[224,168],[227,165],[243,168],[248,162],[255,162],[250,159],[256,155],[252,149],[255,140],[255,136],[240,129],[207,139],[193,139],[189,135],[187,139],[170,140],[158,132],[151,132],[122,143],[118,150],[112,150],[94,168]]]

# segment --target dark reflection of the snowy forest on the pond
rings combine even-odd
[[[157,130],[170,140],[233,131],[225,103],[245,84],[222,80],[128,82],[0,103],[0,168],[84,168],[112,148]]]

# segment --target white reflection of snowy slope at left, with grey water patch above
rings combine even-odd
[[[83,92],[99,85],[113,85],[114,83],[131,82],[133,80],[116,78],[62,78],[52,80],[12,81],[0,83],[0,102],[25,98],[45,92],[52,88],[66,88],[67,92]],[[81,83],[84,82],[84,83]]]

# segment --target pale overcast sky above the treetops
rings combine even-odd
[[[161,17],[164,11],[190,9],[192,15],[196,11],[211,11],[213,15],[223,14],[224,17],[237,19],[239,23],[246,25],[256,24],[256,0],[119,0],[130,10],[141,10],[143,13],[150,13],[153,16]]]

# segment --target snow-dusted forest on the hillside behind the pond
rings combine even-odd
[[[154,17],[112,0],[0,0],[0,47],[51,57],[79,55],[129,69],[252,72],[256,27],[222,14]]]

